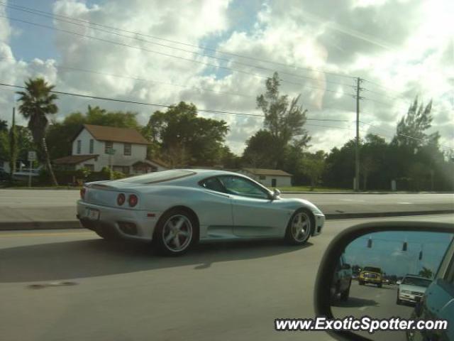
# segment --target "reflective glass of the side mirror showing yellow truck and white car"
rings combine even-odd
[[[355,239],[345,247],[333,274],[333,316],[450,316],[454,325],[454,269],[449,269],[454,267],[453,252],[453,234],[446,233],[375,232]],[[418,335],[421,332],[358,333],[372,340],[432,340]]]

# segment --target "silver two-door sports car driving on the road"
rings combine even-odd
[[[173,255],[196,242],[285,238],[301,245],[321,233],[321,210],[279,194],[238,173],[175,169],[87,183],[77,217],[105,239],[153,241]]]

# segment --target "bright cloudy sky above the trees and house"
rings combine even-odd
[[[255,99],[279,72],[282,94],[308,110],[310,151],[360,135],[389,141],[416,96],[433,99],[433,126],[454,147],[454,2],[450,0],[0,0],[0,82],[45,77],[55,90],[153,104],[262,114]],[[11,121],[14,90],[0,86]],[[160,109],[60,95],[61,120],[88,105]],[[242,153],[260,117],[199,113],[230,126]],[[341,121],[321,121],[321,120]],[[19,124],[25,121],[18,117]]]

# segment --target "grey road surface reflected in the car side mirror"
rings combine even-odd
[[[361,318],[364,315],[370,316],[370,318],[389,318],[392,315],[408,319],[414,307],[396,304],[397,288],[398,286],[387,285],[377,288],[372,284],[360,286],[358,281],[353,281],[348,301],[338,302],[335,307],[331,308],[331,311],[336,318],[344,316]],[[404,331],[376,332],[373,335],[363,332],[362,335],[370,337],[372,340],[406,341]]]

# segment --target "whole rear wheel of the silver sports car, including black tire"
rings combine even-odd
[[[181,221],[183,221],[182,229],[174,230],[175,224],[179,224]],[[154,246],[160,254],[165,256],[181,256],[189,251],[198,240],[199,226],[196,217],[192,212],[179,208],[165,212],[157,222],[153,234]]]

